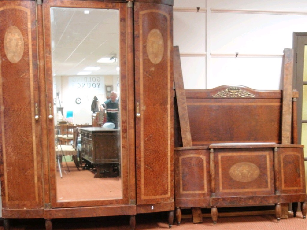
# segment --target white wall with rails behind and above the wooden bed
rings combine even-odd
[[[173,10],[186,89],[281,89],[283,51],[307,31],[306,0],[174,0]]]

